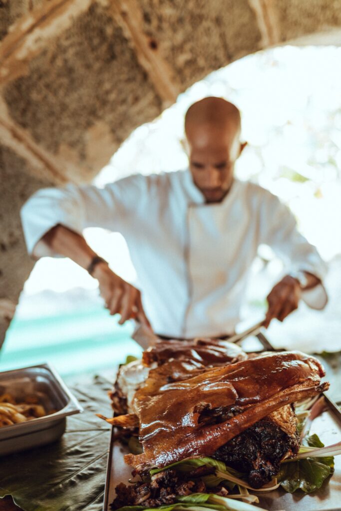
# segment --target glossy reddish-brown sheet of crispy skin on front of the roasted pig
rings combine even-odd
[[[265,353],[196,376],[189,371],[189,378],[181,375],[168,383],[170,363],[151,369],[133,397],[131,408],[139,417],[144,452],[125,459],[137,468],[213,455],[266,415],[328,388],[327,383],[321,385],[320,362],[300,352]],[[238,407],[238,413],[224,422],[200,423],[204,409],[229,406]]]

